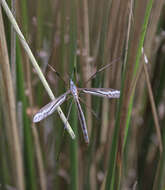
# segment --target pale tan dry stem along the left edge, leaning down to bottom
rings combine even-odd
[[[12,135],[12,151],[14,155],[13,161],[15,162],[14,170],[15,170],[15,180],[16,186],[18,189],[24,190],[24,172],[23,172],[23,161],[21,155],[21,146],[20,146],[20,139],[18,134],[17,128],[17,121],[16,121],[16,106],[15,106],[15,95],[14,89],[12,84],[12,77],[11,71],[9,66],[9,59],[8,59],[8,51],[4,33],[4,25],[2,19],[2,13],[0,9],[0,60],[1,60],[1,69],[2,69],[2,78],[5,84],[6,90],[6,99],[8,102],[8,114],[10,119],[10,130]]]

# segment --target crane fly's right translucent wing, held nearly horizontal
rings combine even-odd
[[[120,91],[112,88],[78,88],[80,92],[101,96],[104,98],[119,98]]]

